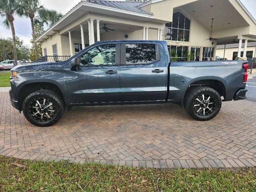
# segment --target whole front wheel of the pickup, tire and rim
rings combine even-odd
[[[40,127],[54,125],[65,111],[59,94],[52,90],[38,90],[31,93],[23,102],[22,110],[25,118]]]

